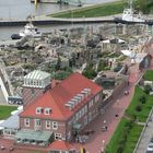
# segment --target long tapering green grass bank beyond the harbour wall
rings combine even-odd
[[[95,16],[107,16],[113,14],[122,13],[125,2],[109,2],[105,4],[96,4],[92,7],[69,10],[56,14],[51,14],[52,17],[95,17]]]

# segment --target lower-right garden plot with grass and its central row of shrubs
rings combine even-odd
[[[106,153],[132,153],[142,129],[143,126],[122,118],[106,148]]]

